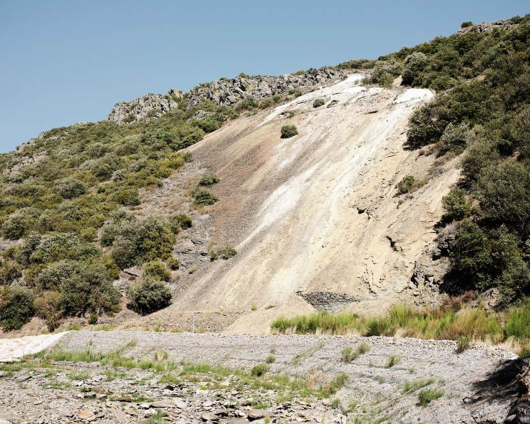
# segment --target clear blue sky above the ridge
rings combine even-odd
[[[528,0],[0,0],[0,152],[114,103],[413,46]]]

